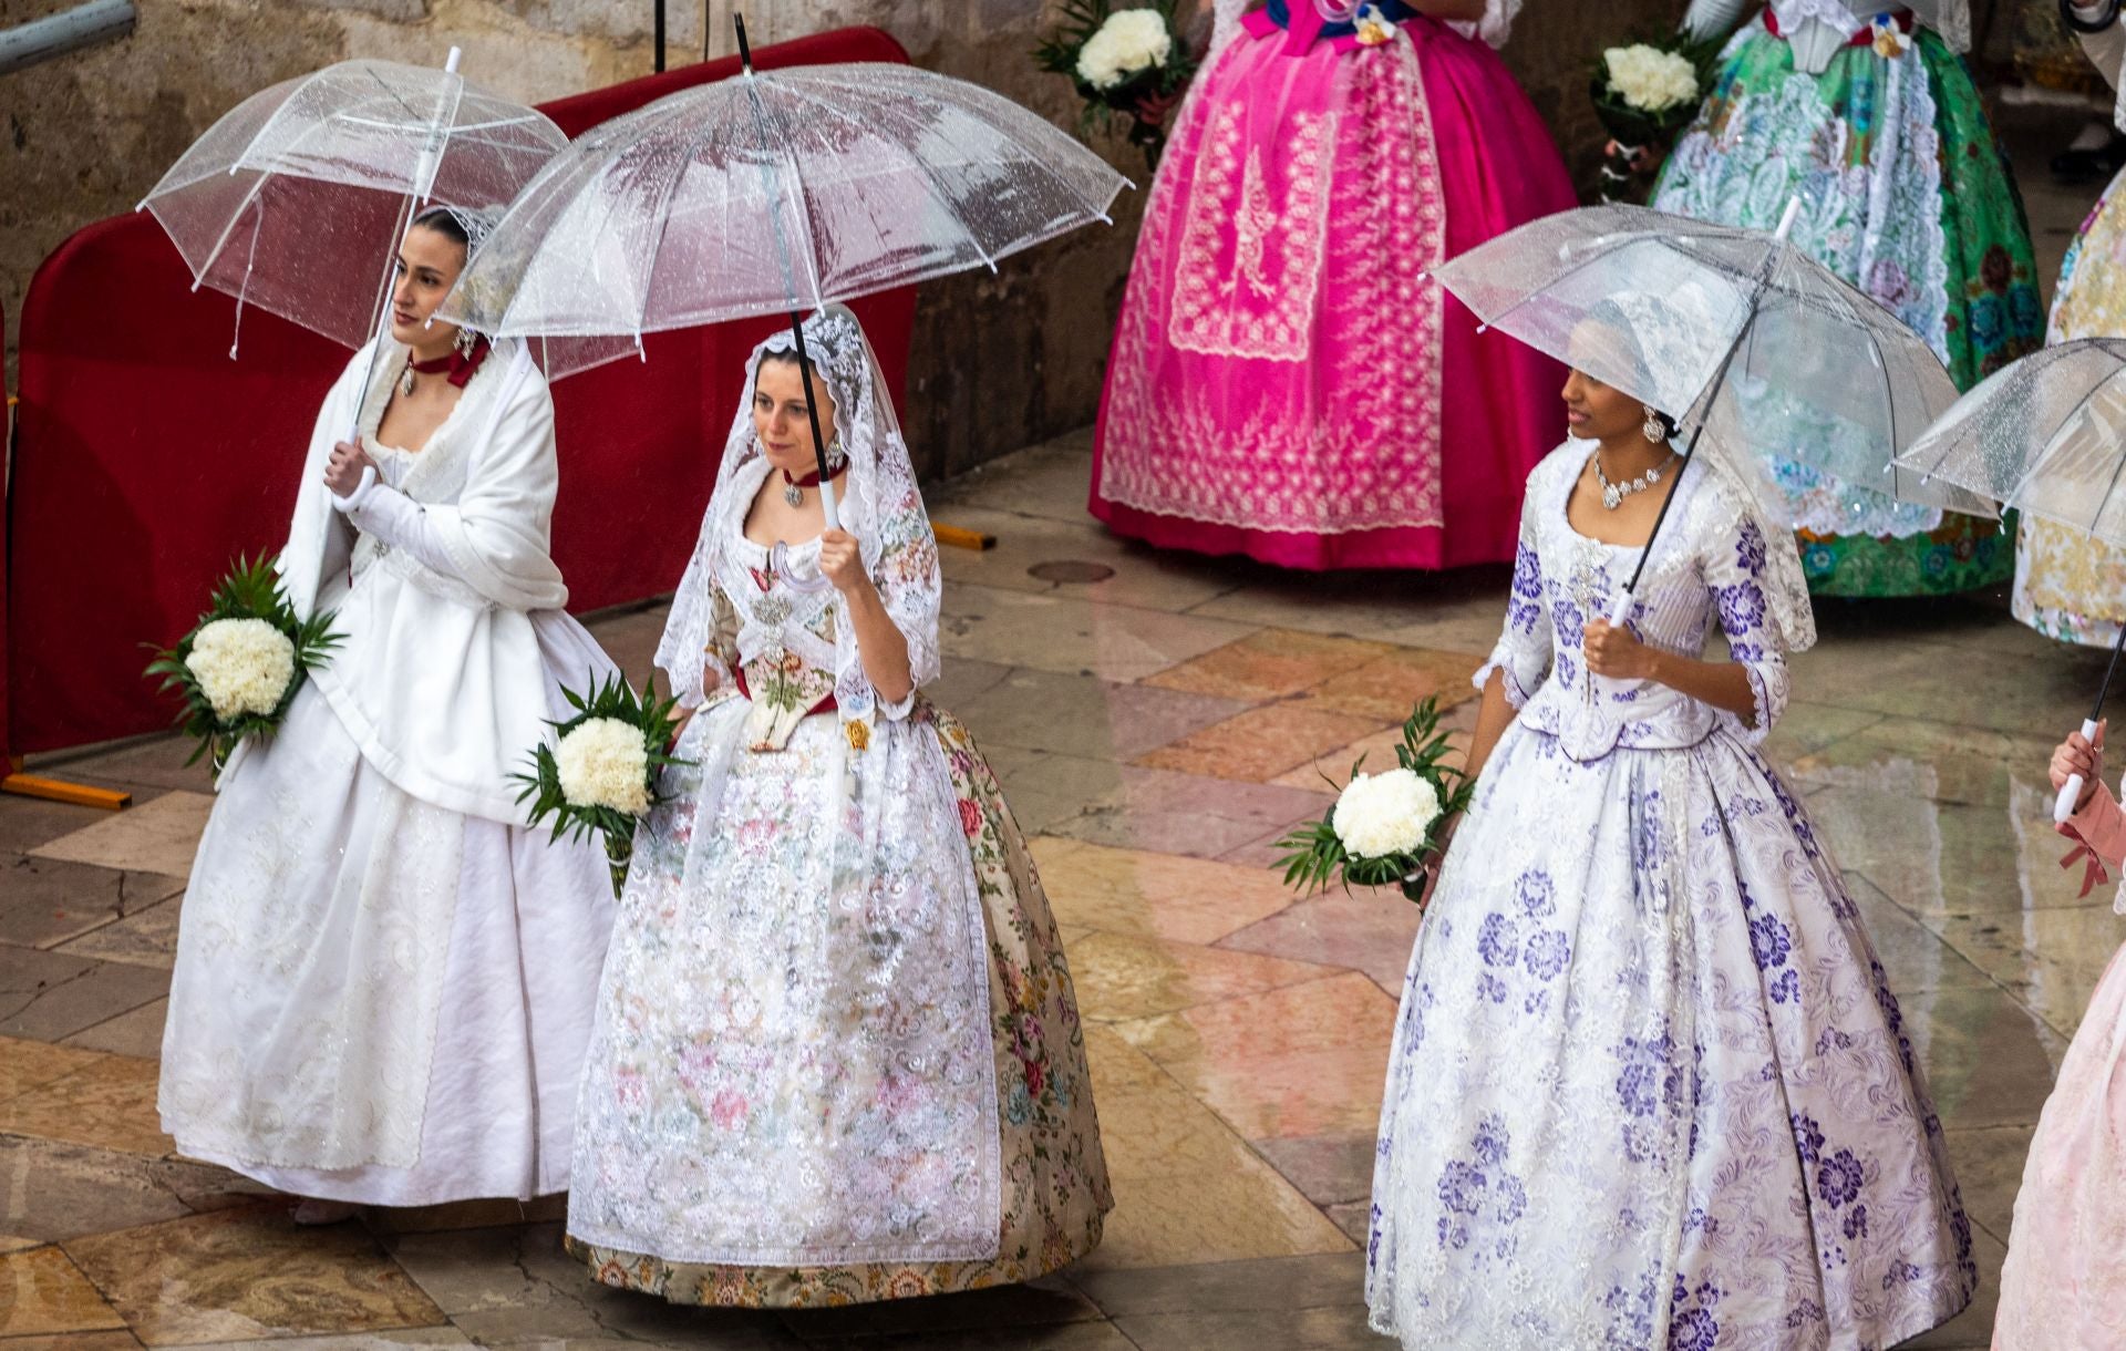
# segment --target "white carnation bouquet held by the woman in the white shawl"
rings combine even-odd
[[[323,666],[342,634],[332,613],[298,619],[268,560],[236,560],[206,613],[176,647],[155,649],[147,674],[176,689],[176,723],[200,740],[185,764],[208,755],[215,777],[247,736],[272,736],[304,677]],[[149,645],[153,647],[153,645]]]

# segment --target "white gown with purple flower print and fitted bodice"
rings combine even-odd
[[[1684,655],[1718,623],[1752,723],[1590,679],[1582,628],[1637,562],[1567,523],[1590,451],[1529,479],[1478,674],[1518,717],[1410,957],[1373,1325],[1405,1347],[1890,1347],[1956,1315],[1977,1268],[1896,998],[1758,751],[1813,640],[1799,566],[1769,553],[1792,545],[1694,466],[1633,613]]]

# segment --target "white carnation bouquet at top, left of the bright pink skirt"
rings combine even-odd
[[[1129,143],[1144,149],[1152,168],[1167,143],[1167,117],[1197,70],[1174,26],[1176,4],[1112,9],[1112,0],[1067,0],[1057,36],[1033,51],[1042,70],[1078,85],[1089,132],[1127,115]]]

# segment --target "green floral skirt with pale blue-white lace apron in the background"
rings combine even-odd
[[[1911,326],[1969,389],[2043,343],[2022,196],[1962,60],[1933,32],[1905,55],[1850,47],[1818,74],[1745,26],[1654,187],[1654,206],[1773,230]],[[2007,581],[1994,521],[1945,515],[1777,460],[1820,596],[1928,596]]]

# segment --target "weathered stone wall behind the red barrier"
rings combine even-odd
[[[0,26],[70,0],[0,0]],[[651,70],[648,0],[138,0],[134,36],[0,77],[0,300],[9,366],[21,294],[38,260],[79,226],[138,202],[215,117],[247,94],[349,55],[440,62],[546,100]],[[1044,0],[674,0],[674,66],[733,47],[744,9],[757,45],[876,23],[933,70],[991,85],[1059,121],[1069,85],[1033,68]],[[1505,49],[1588,181],[1601,134],[1586,109],[1590,53],[1635,23],[1673,23],[1684,0],[1531,0]],[[1103,145],[1144,181],[1127,145]],[[925,472],[957,472],[1091,421],[1120,302],[1142,191],[1114,230],[1082,230],[997,274],[929,287],[918,315],[906,421]]]

